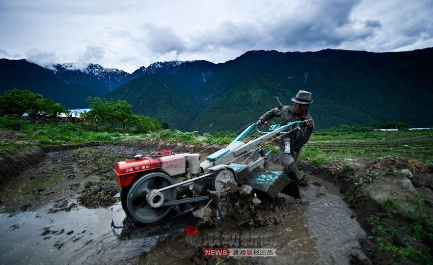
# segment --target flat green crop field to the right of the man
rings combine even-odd
[[[387,155],[415,158],[422,162],[433,160],[433,130],[371,129],[362,133],[321,130],[313,133],[301,153],[301,157],[313,161],[322,160],[321,156],[330,159],[371,159]]]

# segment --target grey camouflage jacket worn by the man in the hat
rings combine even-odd
[[[290,149],[293,151],[300,151],[301,148],[308,142],[310,139],[311,134],[313,133],[314,129],[314,121],[311,118],[310,114],[307,113],[302,117],[295,117],[293,107],[290,106],[281,106],[279,108],[272,109],[263,116],[261,116],[259,119],[261,122],[268,121],[274,117],[281,117],[280,125],[286,125],[292,121],[299,121],[299,120],[306,120],[310,119],[312,122],[308,126],[300,126],[301,129],[297,129],[297,125],[292,125],[289,128],[287,128],[285,131],[290,131],[290,133],[282,136],[280,138],[280,149],[284,150],[284,139],[290,138]]]

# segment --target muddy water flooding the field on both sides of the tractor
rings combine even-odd
[[[63,166],[56,166],[58,153],[49,153],[35,169],[19,176],[0,190],[0,263],[2,264],[168,264],[191,262],[167,250],[165,236],[119,240],[110,229],[110,219],[121,224],[125,214],[120,203],[108,208],[76,206],[77,187],[83,173],[71,154],[62,151]],[[43,167],[45,174],[40,174]],[[46,170],[45,170],[46,169]],[[61,171],[68,171],[61,174]],[[35,175],[35,172],[37,174]],[[73,177],[71,177],[73,175]],[[256,258],[262,264],[349,264],[348,254],[365,258],[358,240],[365,232],[331,184],[308,176],[300,189],[302,198],[282,197],[286,206],[273,213],[260,210],[263,218],[285,213],[283,222],[266,229],[278,230],[277,257]],[[90,180],[90,179],[86,179]],[[52,212],[60,202],[70,210]],[[252,258],[238,258],[251,263]],[[225,263],[227,258],[219,258]],[[217,262],[218,262],[217,261]],[[216,263],[216,262],[215,262]],[[221,263],[220,263],[221,264]]]

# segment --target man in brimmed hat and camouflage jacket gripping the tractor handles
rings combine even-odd
[[[305,121],[299,127],[293,125],[287,128],[285,131],[289,133],[282,135],[279,142],[284,171],[292,180],[300,182],[300,172],[296,163],[302,146],[308,142],[314,129],[313,119],[307,110],[313,100],[311,100],[310,92],[300,90],[292,101],[294,102],[293,107],[281,105],[263,114],[257,122],[262,124],[274,117],[281,117],[281,126],[293,121]]]

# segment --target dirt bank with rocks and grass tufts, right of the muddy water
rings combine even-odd
[[[387,156],[301,167],[339,187],[367,232],[361,243],[373,263],[433,263],[432,165]]]

